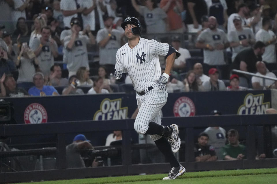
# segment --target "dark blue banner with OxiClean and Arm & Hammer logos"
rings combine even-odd
[[[14,105],[18,123],[46,123],[130,118],[137,108],[134,94],[72,95],[5,98]],[[164,117],[222,114],[265,114],[271,91],[216,91],[169,93],[162,108]]]

